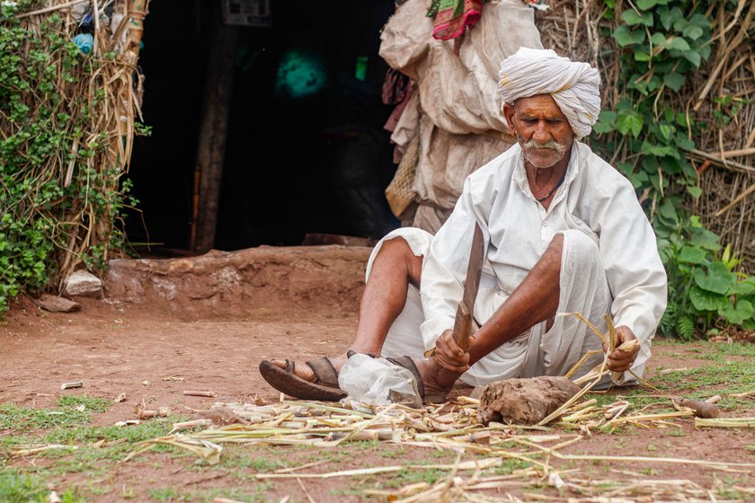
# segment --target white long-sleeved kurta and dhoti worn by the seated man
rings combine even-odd
[[[579,142],[573,144],[564,183],[547,210],[529,190],[521,148],[516,145],[467,177],[453,213],[434,237],[403,228],[384,238],[402,236],[415,254],[424,256],[421,309],[416,292],[410,292],[384,354],[431,349],[443,331],[453,328],[475,222],[482,227],[487,250],[475,302],[476,322],[484,323],[506,301],[556,233],[571,231],[564,234],[565,248],[572,251],[564,252],[562,260],[559,310],[576,306],[600,327],[605,327],[600,309],[610,311],[616,326],[626,325],[640,340],[641,351],[632,370],[642,375],[650,341],[666,307],[666,273],[653,228],[632,185]],[[584,246],[569,244],[582,235],[597,245],[593,255],[600,256],[594,262],[604,275],[581,274],[566,267],[582,264],[584,257],[579,254],[584,253]],[[370,258],[368,275],[379,244]],[[564,338],[564,334],[568,335]],[[546,332],[545,322],[538,324],[484,357],[463,379],[485,384],[508,377],[563,375],[584,351],[596,348],[600,349],[600,341],[582,322],[573,316],[557,317],[550,331]],[[626,380],[633,378],[627,373]]]

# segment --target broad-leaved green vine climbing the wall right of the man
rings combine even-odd
[[[606,1],[609,33],[620,50],[614,110],[600,113],[595,132],[608,157],[623,152],[618,169],[644,195],[669,275],[669,306],[660,329],[691,339],[717,323],[755,327],[751,278],[734,272],[738,260],[718,236],[689,216],[682,201],[702,196],[688,160],[693,138],[706,124],[689,117],[679,93],[711,53],[706,2],[638,0],[622,12]],[[723,100],[720,122],[742,107]],[[726,108],[728,107],[728,108]]]

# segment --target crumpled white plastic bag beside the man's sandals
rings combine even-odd
[[[338,373],[338,385],[349,393],[344,399],[347,401],[368,405],[402,402],[413,407],[422,406],[422,397],[417,391],[412,372],[383,357],[352,356]]]

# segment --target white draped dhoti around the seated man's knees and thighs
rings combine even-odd
[[[608,280],[597,243],[580,230],[565,230],[561,259],[560,296],[558,313],[582,313],[600,331],[606,331],[604,314],[610,312],[613,301],[608,288]],[[375,246],[367,265],[367,278],[372,262],[377,257],[382,243],[395,238],[403,238],[416,256],[427,256],[432,235],[422,229],[404,227],[387,234]],[[482,325],[506,302],[511,292],[497,287],[493,269],[486,264],[480,280],[480,289],[475,301],[475,322]],[[422,358],[426,349],[435,346],[435,339],[423,340],[420,325],[425,317],[422,313],[420,291],[409,286],[404,310],[396,318],[388,331],[381,351],[384,357],[409,356]],[[440,334],[435,334],[434,338]],[[650,357],[650,341],[646,341],[635,360],[632,370],[642,375],[644,365]],[[498,349],[483,357],[466,371],[461,379],[473,386],[492,383],[513,377],[533,377],[537,375],[565,375],[589,350],[600,350],[601,342],[590,328],[576,316],[556,316],[550,330],[546,322],[540,322],[529,331],[503,343]],[[589,358],[575,374],[586,374],[602,360],[602,351]],[[626,373],[626,382],[635,377]]]

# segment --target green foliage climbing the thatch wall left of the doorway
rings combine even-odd
[[[13,17],[39,4],[0,7],[0,313],[49,287],[63,262],[102,269],[122,244],[113,224],[129,190],[95,126],[106,84],[93,75],[113,63],[84,55],[56,14]]]

